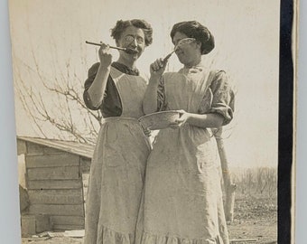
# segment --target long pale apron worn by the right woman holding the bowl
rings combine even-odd
[[[198,113],[212,100],[207,70],[164,75],[168,109]],[[205,98],[206,100],[206,98]],[[156,137],[146,169],[136,244],[228,244],[219,155],[209,129],[185,124]]]

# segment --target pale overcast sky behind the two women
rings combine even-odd
[[[98,60],[85,41],[115,44],[109,29],[119,19],[142,18],[154,29],[154,42],[138,61],[145,75],[156,58],[172,51],[172,25],[197,20],[213,33],[216,48],[204,56],[212,68],[226,70],[237,91],[235,119],[226,140],[230,166],[277,164],[279,1],[277,0],[10,0],[14,66],[39,88],[33,56],[46,77],[62,72],[65,61],[81,80]],[[114,54],[116,60],[117,53]],[[85,59],[87,65],[81,64]],[[181,63],[173,55],[169,70]],[[15,83],[19,80],[15,77]],[[15,96],[19,136],[37,136]]]

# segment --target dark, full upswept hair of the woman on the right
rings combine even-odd
[[[209,32],[206,26],[203,26],[197,21],[184,21],[175,23],[172,26],[172,38],[175,33],[184,33],[186,36],[195,38],[196,41],[201,42],[201,54],[207,54],[214,49],[214,36]]]

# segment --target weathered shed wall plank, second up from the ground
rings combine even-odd
[[[48,214],[60,216],[82,216],[84,217],[83,204],[79,205],[56,205],[56,204],[32,204],[29,214]]]

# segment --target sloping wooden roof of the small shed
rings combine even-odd
[[[45,145],[74,155],[81,155],[91,158],[94,153],[95,145],[84,144],[73,141],[63,141],[39,137],[17,136],[17,140],[31,142],[38,145]]]

